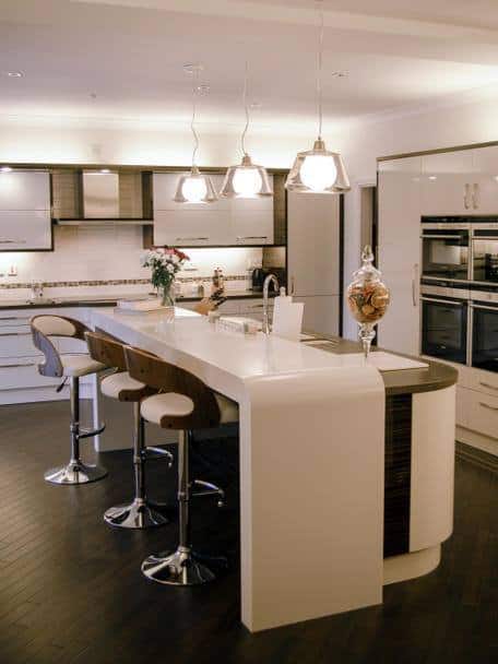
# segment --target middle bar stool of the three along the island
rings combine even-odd
[[[123,345],[96,332],[86,332],[91,356],[97,361],[114,367],[115,372],[100,380],[100,391],[110,399],[133,404],[133,470],[134,497],[131,502],[109,508],[104,521],[117,527],[146,529],[168,523],[154,503],[147,500],[145,489],[145,462],[149,459],[166,459],[173,465],[173,454],[161,448],[145,447],[144,420],[140,415],[140,403],[156,390],[131,378],[127,371]]]

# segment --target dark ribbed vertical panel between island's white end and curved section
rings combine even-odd
[[[384,558],[410,549],[412,394],[386,400]]]

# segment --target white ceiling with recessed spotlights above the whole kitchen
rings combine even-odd
[[[322,4],[325,129],[498,91],[497,0]],[[202,61],[211,92],[200,119],[239,123],[247,59],[249,96],[262,105],[254,122],[304,127],[316,110],[316,40],[306,0],[1,0],[0,114],[183,120],[182,66]]]

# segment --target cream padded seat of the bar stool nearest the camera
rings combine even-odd
[[[228,424],[238,422],[238,405],[213,392],[216,403],[220,408],[220,424]],[[162,426],[162,420],[167,417],[186,417],[193,412],[194,403],[183,394],[176,392],[167,392],[166,394],[154,394],[142,402],[141,415],[147,422]]]

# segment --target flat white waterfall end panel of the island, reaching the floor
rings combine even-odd
[[[372,367],[247,382],[241,617],[251,631],[382,601],[384,399]]]

